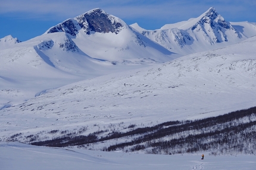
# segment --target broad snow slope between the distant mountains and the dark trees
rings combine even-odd
[[[0,110],[2,141],[192,120],[255,106],[256,37],[163,65],[76,82]],[[113,126],[114,125],[114,126]],[[43,132],[44,131],[44,132]],[[54,134],[53,134],[54,135]],[[46,136],[46,137],[45,137]]]

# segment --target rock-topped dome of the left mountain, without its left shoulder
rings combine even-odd
[[[45,34],[65,32],[90,57],[113,62],[167,62],[170,51],[133,31],[123,20],[96,8],[65,20]],[[180,55],[178,55],[180,56]]]

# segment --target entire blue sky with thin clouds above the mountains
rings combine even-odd
[[[93,8],[101,8],[127,24],[146,30],[195,18],[216,8],[226,21],[256,23],[255,0],[0,0],[0,38],[12,35],[21,41]]]

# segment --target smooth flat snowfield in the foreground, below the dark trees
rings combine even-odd
[[[144,155],[0,143],[0,165],[15,169],[255,169],[255,156]]]

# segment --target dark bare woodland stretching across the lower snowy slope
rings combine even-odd
[[[101,150],[123,150],[145,153],[176,154],[209,151],[218,154],[256,154],[256,107],[234,111],[201,120],[168,121],[152,127],[143,127],[120,133],[96,131],[88,136],[72,136],[72,133],[52,140],[32,142],[32,145],[86,147],[111,142],[115,145]],[[104,134],[107,132],[107,135]],[[51,131],[54,133],[54,131]],[[31,136],[30,136],[31,137]],[[125,139],[126,142],[121,142]],[[129,140],[130,139],[130,140]],[[119,142],[120,141],[120,142]]]

